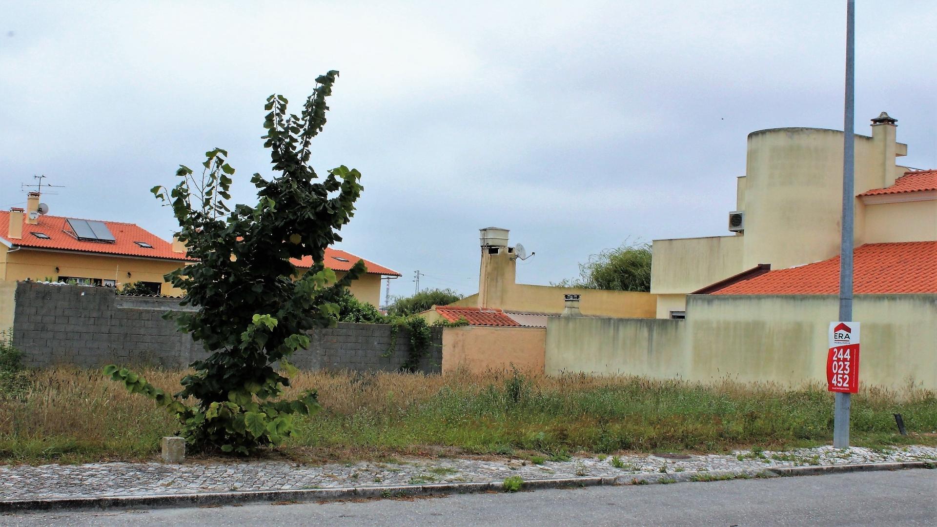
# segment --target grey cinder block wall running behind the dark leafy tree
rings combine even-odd
[[[13,345],[29,367],[107,364],[185,368],[207,354],[175,323],[162,318],[184,309],[178,299],[121,296],[112,289],[20,282],[16,288]],[[310,345],[290,357],[301,369],[394,371],[407,360],[409,335],[401,330],[394,351],[387,324],[345,324],[310,332]],[[431,353],[421,370],[439,372],[442,330],[433,328]]]

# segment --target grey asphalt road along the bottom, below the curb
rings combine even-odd
[[[23,513],[0,525],[937,525],[937,471],[829,474],[411,501]]]

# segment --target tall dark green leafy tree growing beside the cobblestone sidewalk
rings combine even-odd
[[[287,114],[286,98],[267,98],[263,139],[276,175],[251,178],[256,205],[227,204],[234,169],[220,148],[206,152],[201,176],[182,166],[175,187],[153,188],[171,206],[179,239],[197,259],[166,276],[185,292],[182,304],[198,308],[172,317],[210,355],[190,365],[195,371],[175,395],[128,369],[112,365],[105,373],[175,414],[195,449],[249,454],[290,436],[294,414],[320,409],[315,392],[281,400],[290,381],[273,364],[290,371],[287,359],[309,344],[306,332],[336,324],[335,300],[364,272],[358,262],[336,280],[322,264],[363,189],[356,170],[340,166],[320,179],[309,166],[309,143],[325,125],[325,99],[337,76],[329,71],[316,80],[299,115]],[[301,273],[290,259],[304,256],[314,264]]]

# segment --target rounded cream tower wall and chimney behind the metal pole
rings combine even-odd
[[[877,129],[876,129],[877,128]],[[891,125],[855,136],[855,193],[883,188],[898,172]],[[890,147],[888,143],[890,142]],[[885,158],[885,156],[890,158]],[[743,266],[774,269],[809,264],[839,253],[842,208],[842,132],[820,128],[775,128],[749,134],[745,183]],[[856,242],[866,219],[856,204]]]

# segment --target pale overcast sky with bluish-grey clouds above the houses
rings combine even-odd
[[[193,6],[191,4],[197,4]],[[149,194],[231,153],[234,198],[269,173],[263,103],[341,76],[320,173],[363,173],[340,248],[392,294],[478,288],[478,229],[573,277],[626,239],[723,235],[746,136],[842,128],[844,1],[0,1],[0,206],[45,174],[51,214],[175,226]],[[937,4],[858,0],[856,132],[883,110],[937,167]]]

